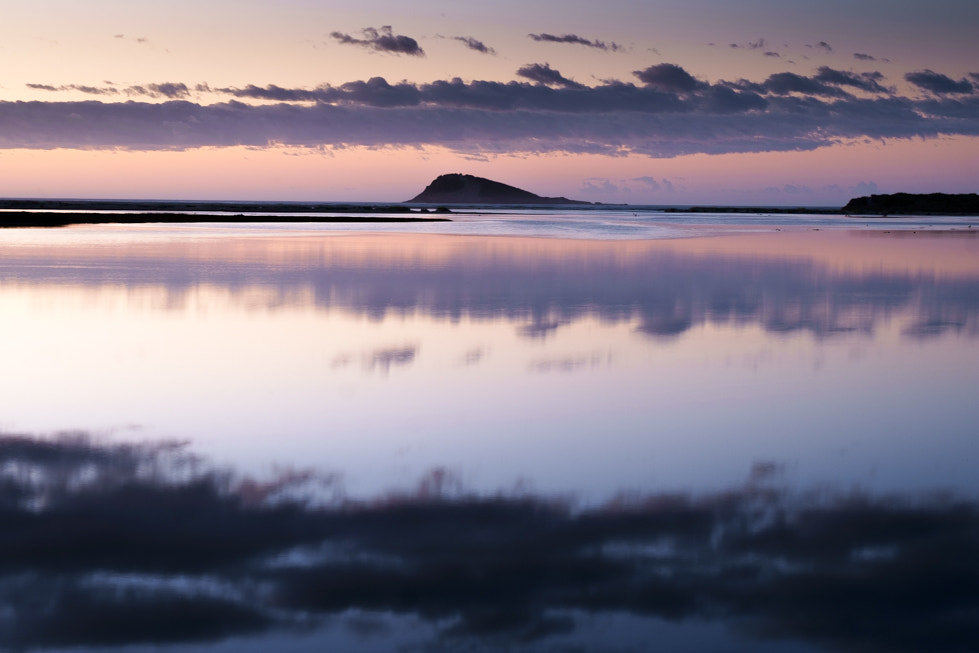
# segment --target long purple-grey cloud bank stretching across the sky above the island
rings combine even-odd
[[[876,71],[821,67],[811,76],[781,72],[762,82],[708,83],[663,63],[635,71],[641,85],[609,80],[596,86],[546,64],[531,64],[520,74],[535,83],[455,78],[392,84],[373,77],[316,88],[198,84],[192,91],[168,82],[116,89],[165,102],[0,102],[0,148],[437,145],[478,155],[672,157],[805,151],[857,138],[979,135],[975,94],[904,97],[885,88]],[[922,83],[944,88],[936,79],[947,78],[934,75]],[[234,99],[200,104],[188,101],[192,92]]]

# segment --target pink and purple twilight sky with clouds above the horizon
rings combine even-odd
[[[974,0],[7,0],[0,196],[976,192]]]

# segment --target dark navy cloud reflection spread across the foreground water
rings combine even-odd
[[[349,617],[393,647],[410,617],[430,650],[536,650],[589,641],[600,615],[719,624],[713,650],[979,641],[974,499],[790,492],[769,464],[723,492],[587,509],[469,493],[445,470],[358,501],[316,490],[333,480],[259,483],[173,443],[0,436],[0,646],[317,629],[328,646]],[[607,650],[636,637],[601,633]]]

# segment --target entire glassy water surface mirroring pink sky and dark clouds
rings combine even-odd
[[[979,239],[64,237],[0,646],[976,641]]]

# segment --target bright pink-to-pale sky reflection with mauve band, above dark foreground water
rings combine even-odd
[[[451,465],[604,500],[726,487],[759,457],[805,483],[975,486],[968,234],[160,229],[2,246],[7,428],[135,423],[363,495]]]

